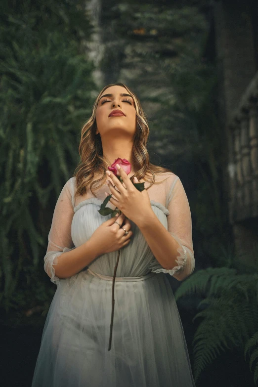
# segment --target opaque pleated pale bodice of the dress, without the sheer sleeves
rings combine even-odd
[[[102,216],[98,210],[102,200],[89,198],[82,201],[74,208],[74,216],[71,225],[71,235],[75,247],[85,243],[104,221],[111,218],[111,215]],[[151,200],[154,213],[158,216],[162,224],[168,229],[167,215],[168,209],[158,202]],[[120,249],[120,258],[117,268],[118,277],[137,277],[150,272],[148,264],[154,258],[143,234],[137,225],[130,220],[132,236],[129,244]],[[117,252],[103,254],[94,259],[88,267],[93,271],[113,276],[116,265]]]

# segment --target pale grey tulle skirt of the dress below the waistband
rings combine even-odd
[[[32,387],[193,387],[184,332],[164,273],[62,279],[51,302]]]

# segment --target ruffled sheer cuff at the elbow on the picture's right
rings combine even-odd
[[[189,276],[195,267],[194,255],[188,247],[182,245],[179,238],[170,233],[174,239],[178,242],[179,247],[177,249],[178,255],[175,259],[176,265],[172,269],[165,269],[162,267],[160,262],[154,257],[153,260],[148,265],[149,269],[154,273],[165,273],[173,276],[178,271],[184,271],[185,277]]]

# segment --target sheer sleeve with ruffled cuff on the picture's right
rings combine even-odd
[[[151,271],[163,272],[174,276],[178,280],[185,279],[194,270],[195,258],[192,240],[192,218],[189,202],[178,176],[172,181],[167,193],[168,231],[178,242],[176,265],[167,270],[155,258],[150,264]]]

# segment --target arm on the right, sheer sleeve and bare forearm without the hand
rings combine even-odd
[[[168,273],[181,281],[193,272],[195,259],[191,212],[179,177],[172,182],[168,210],[168,230],[154,213],[138,227],[155,256],[149,265],[150,269],[156,273]]]

